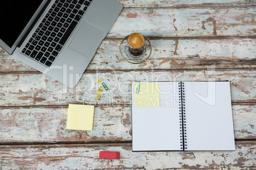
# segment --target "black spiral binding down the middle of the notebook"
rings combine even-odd
[[[179,89],[179,107],[180,107],[180,148],[187,149],[187,129],[186,129],[186,112],[185,112],[185,89],[184,82],[178,83]]]

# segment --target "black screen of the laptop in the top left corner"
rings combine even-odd
[[[1,1],[0,39],[13,46],[43,0]]]

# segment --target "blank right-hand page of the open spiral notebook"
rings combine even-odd
[[[186,150],[235,150],[229,82],[184,85]]]

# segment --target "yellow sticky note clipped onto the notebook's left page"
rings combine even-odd
[[[137,88],[139,94],[136,93]],[[135,82],[134,107],[160,107],[159,82]]]

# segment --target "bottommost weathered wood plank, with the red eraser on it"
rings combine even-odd
[[[255,142],[236,142],[236,151],[132,152],[130,143],[0,146],[2,169],[255,169]],[[119,160],[99,159],[100,151]]]

